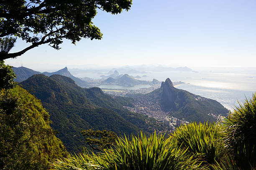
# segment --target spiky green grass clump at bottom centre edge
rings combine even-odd
[[[164,140],[164,135],[154,133],[149,138],[141,133],[118,138],[115,149],[109,150],[97,162],[108,170],[189,170],[197,167],[197,161],[186,150]]]

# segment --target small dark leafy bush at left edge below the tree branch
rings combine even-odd
[[[10,89],[13,88],[16,83],[13,79],[16,77],[12,70],[12,66],[5,65],[3,60],[0,60],[0,89]]]

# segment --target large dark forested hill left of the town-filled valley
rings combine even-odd
[[[124,109],[132,105],[131,98],[114,99],[98,87],[79,87],[69,77],[33,75],[20,84],[42,101],[69,151],[81,151],[85,145],[81,130],[112,130],[118,135],[164,130],[160,122]]]

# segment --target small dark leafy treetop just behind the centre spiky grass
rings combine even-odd
[[[82,130],[82,135],[87,137],[86,143],[90,145],[93,150],[98,150],[103,153],[106,150],[114,146],[117,135],[112,131],[107,130]]]

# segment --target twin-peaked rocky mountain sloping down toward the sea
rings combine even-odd
[[[218,116],[226,115],[229,112],[216,100],[175,88],[169,78],[162,82],[161,88],[134,97],[136,98],[134,103],[136,107],[159,110],[166,112],[169,116],[184,118],[190,122],[215,121],[216,119],[211,114]],[[148,105],[148,103],[151,104]]]

